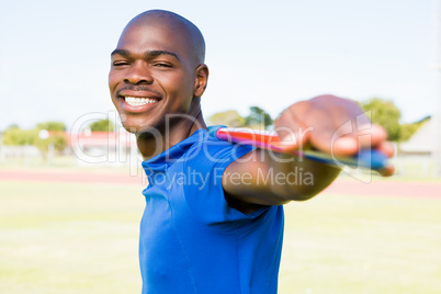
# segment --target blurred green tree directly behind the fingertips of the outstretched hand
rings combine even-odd
[[[371,117],[373,123],[378,124],[386,129],[389,140],[397,142],[400,139],[402,126],[399,124],[399,118],[402,112],[392,101],[372,98],[362,102],[361,106],[366,112],[366,115]]]

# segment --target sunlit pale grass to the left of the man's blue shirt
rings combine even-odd
[[[0,182],[0,293],[139,293],[140,191]]]

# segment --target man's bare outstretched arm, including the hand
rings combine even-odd
[[[374,148],[388,157],[394,154],[382,127],[371,124],[355,102],[333,95],[291,105],[274,126],[286,150],[313,148],[336,157],[353,156],[360,148]],[[252,211],[256,205],[310,199],[339,172],[338,167],[255,149],[227,167],[223,186],[230,203]],[[382,176],[393,172],[392,166],[380,171]]]

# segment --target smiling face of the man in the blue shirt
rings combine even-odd
[[[196,67],[179,27],[155,23],[126,27],[112,53],[109,74],[123,126],[132,133],[163,129],[166,114],[189,113]]]

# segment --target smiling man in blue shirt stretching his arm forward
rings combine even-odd
[[[143,293],[276,293],[282,204],[310,199],[340,170],[211,136],[201,112],[204,55],[199,29],[160,10],[133,19],[112,53],[112,100],[136,134],[149,180],[139,241]],[[392,156],[384,129],[366,125],[354,102],[323,95],[291,105],[275,129],[287,149],[349,156],[361,146]],[[295,169],[312,181],[280,180]]]

